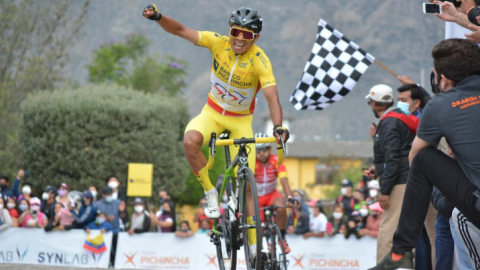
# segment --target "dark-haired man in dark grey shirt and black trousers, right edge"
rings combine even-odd
[[[456,207],[453,225],[469,249],[472,265],[480,268],[480,48],[470,40],[447,39],[433,48],[432,57],[432,88],[441,93],[425,107],[410,151],[411,169],[392,251],[371,269],[412,267],[412,249],[433,186]],[[436,149],[442,137],[455,159]]]

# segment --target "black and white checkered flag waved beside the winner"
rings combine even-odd
[[[297,110],[323,110],[355,87],[375,58],[320,19],[317,40],[290,102]]]

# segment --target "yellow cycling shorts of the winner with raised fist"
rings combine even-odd
[[[200,132],[203,135],[203,145],[208,144],[212,132],[217,133],[218,136],[227,129],[230,130],[230,139],[253,138],[252,121],[252,114],[247,116],[226,116],[205,105],[202,112],[188,123],[185,133],[190,130]],[[251,149],[248,154],[248,167],[255,173],[255,144],[248,144],[247,147]],[[231,145],[229,148],[230,157],[233,160],[238,153],[238,146]]]

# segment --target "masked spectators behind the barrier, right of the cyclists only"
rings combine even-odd
[[[287,222],[287,233],[302,235],[303,238],[344,235],[345,238],[355,236],[359,239],[369,235],[377,238],[380,218],[383,209],[378,201],[378,180],[360,182],[355,191],[354,184],[344,179],[340,186],[340,196],[334,201],[330,213],[324,210],[322,201],[310,199],[301,190],[295,190],[295,215],[290,214]]]

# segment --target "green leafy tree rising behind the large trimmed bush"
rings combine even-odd
[[[115,82],[150,93],[177,94],[185,86],[186,64],[172,56],[148,56],[149,45],[144,34],[131,34],[125,42],[101,45],[88,65],[90,82]]]

